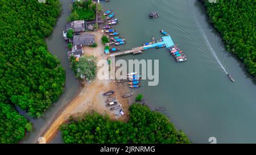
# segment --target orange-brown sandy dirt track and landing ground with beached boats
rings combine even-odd
[[[108,55],[104,53],[104,45],[101,43],[101,37],[103,32],[100,30],[96,32],[89,32],[96,35],[96,48],[91,47],[83,47],[85,51],[85,55],[94,55],[98,60],[107,60]],[[46,131],[43,132],[42,137],[46,141],[43,143],[49,143],[56,133],[59,131],[59,127],[61,124],[68,122],[69,117],[72,115],[74,117],[81,116],[84,112],[88,112],[91,110],[97,111],[100,114],[109,115],[112,120],[121,120],[126,122],[129,119],[129,99],[122,98],[122,95],[129,92],[129,87],[127,87],[127,83],[118,83],[117,80],[101,80],[96,77],[91,83],[82,83],[83,87],[81,88],[79,94],[68,103],[66,107],[61,109],[58,112],[58,115],[55,116],[52,123],[49,124]],[[122,104],[122,108],[125,112],[124,116],[115,115],[118,113],[116,111],[110,111],[109,107],[105,106],[105,99],[109,97],[105,97],[102,95],[106,91],[114,90],[115,93],[110,97],[117,97],[118,101]],[[40,142],[39,142],[40,143]]]

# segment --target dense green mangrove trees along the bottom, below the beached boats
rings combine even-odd
[[[147,106],[130,106],[127,123],[112,121],[96,112],[84,119],[71,120],[61,126],[64,143],[189,143],[182,131],[177,131],[159,112]]]

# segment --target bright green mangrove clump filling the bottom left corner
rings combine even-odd
[[[0,143],[18,143],[32,125],[9,104],[0,103]]]

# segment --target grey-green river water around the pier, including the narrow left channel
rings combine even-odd
[[[62,31],[69,14],[70,0],[61,0],[61,14],[52,36],[46,42],[49,51],[59,57],[66,70],[65,92],[59,102],[40,119],[30,119],[34,131],[23,143],[33,143],[49,120],[77,92],[79,83],[68,66],[67,49]],[[152,36],[160,39],[159,30],[171,34],[176,44],[188,56],[177,63],[166,49],[150,49],[141,55],[122,56],[124,60],[159,60],[159,85],[142,82],[142,93],[151,108],[168,107],[165,114],[178,129],[182,129],[193,143],[256,143],[256,86],[240,61],[225,51],[219,34],[207,22],[207,15],[197,0],[111,0],[104,10],[113,9],[118,18],[117,28],[127,44],[123,50],[139,47]],[[150,11],[158,11],[160,18],[149,19]],[[236,82],[230,82],[225,71]],[[60,133],[52,143],[63,143]]]

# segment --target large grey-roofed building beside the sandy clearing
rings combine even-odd
[[[73,45],[89,46],[95,43],[95,35],[84,33],[82,35],[73,36]]]

